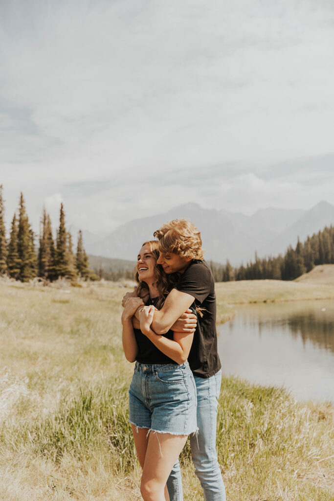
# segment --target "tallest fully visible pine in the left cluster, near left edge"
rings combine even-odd
[[[34,239],[35,235],[29,224],[25,200],[23,198],[23,193],[21,193],[18,229],[18,254],[20,259],[19,278],[21,282],[28,282],[32,278],[36,277],[37,274]]]

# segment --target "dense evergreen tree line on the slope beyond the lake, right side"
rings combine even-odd
[[[304,242],[299,238],[295,247],[291,245],[286,253],[276,258],[255,260],[246,266],[233,268],[229,261],[225,265],[211,263],[216,282],[234,280],[294,280],[303,273],[310,272],[314,266],[334,264],[334,227],[326,226],[322,231],[308,236]]]

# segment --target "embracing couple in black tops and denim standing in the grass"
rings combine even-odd
[[[123,299],[123,348],[136,362],[129,421],[144,501],[182,501],[178,457],[187,436],[205,501],[225,501],[216,453],[221,365],[216,297],[200,232],[174,219],[138,254],[137,288]]]

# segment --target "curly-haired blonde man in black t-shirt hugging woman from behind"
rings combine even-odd
[[[216,453],[217,406],[221,384],[221,365],[217,353],[216,296],[214,279],[203,260],[200,232],[190,221],[174,219],[155,231],[159,239],[158,264],[165,273],[177,274],[179,281],[169,293],[163,308],[156,311],[152,329],[164,334],[169,329],[183,330],[183,313],[195,305],[200,309],[193,344],[188,357],[197,387],[198,436],[190,437],[192,459],[205,501],[225,501],[225,487]],[[140,307],[141,308],[141,307]],[[138,312],[136,317],[138,317]],[[190,325],[188,328],[192,328]],[[171,501],[182,501],[178,462],[167,481]]]

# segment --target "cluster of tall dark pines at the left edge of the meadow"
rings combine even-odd
[[[21,282],[39,277],[47,281],[59,278],[97,280],[89,269],[89,261],[79,230],[76,254],[72,235],[66,229],[63,203],[60,207],[59,227],[53,238],[50,215],[43,209],[39,245],[37,235],[29,222],[23,193],[20,195],[18,212],[14,213],[10,236],[6,238],[3,186],[0,185],[0,275],[7,275]]]

